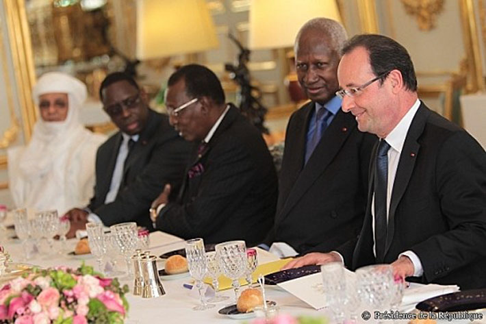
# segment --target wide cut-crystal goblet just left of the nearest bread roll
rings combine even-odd
[[[220,256],[222,272],[233,282],[235,303],[238,301],[240,278],[246,274],[248,260],[246,259],[246,245],[243,240],[233,240],[216,245],[216,253]]]

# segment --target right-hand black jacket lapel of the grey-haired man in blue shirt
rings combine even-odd
[[[314,153],[312,153],[309,161],[307,161],[307,164],[298,175],[294,186],[290,190],[290,194],[287,197],[287,201],[285,201],[280,215],[281,219],[290,212],[305,192],[307,192],[309,187],[316,182],[319,175],[326,170],[355,127],[356,123],[353,116],[342,112],[342,110],[337,112],[331,125],[327,127],[316,149],[314,149]],[[300,152],[300,158],[303,158],[305,153],[305,145],[302,146],[304,150]]]

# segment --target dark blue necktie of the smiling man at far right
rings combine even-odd
[[[374,172],[374,243],[376,262],[383,262],[387,240],[387,184],[389,144],[380,140]]]

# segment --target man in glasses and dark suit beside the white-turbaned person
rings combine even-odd
[[[135,221],[152,229],[151,202],[166,184],[179,188],[190,143],[149,108],[146,92],[125,73],[112,73],[99,90],[103,109],[119,131],[97,152],[96,184],[90,204],[74,208],[69,236],[87,221],[113,225]]]

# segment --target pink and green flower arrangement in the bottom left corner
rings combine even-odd
[[[127,285],[101,277],[92,266],[34,269],[0,288],[0,323],[123,323],[126,292]]]

